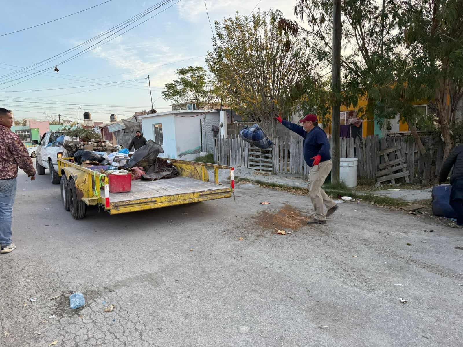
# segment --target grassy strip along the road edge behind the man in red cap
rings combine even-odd
[[[269,183],[261,180],[250,180],[248,178],[235,178],[236,182],[250,182],[255,183],[264,188],[272,188],[279,191],[291,192],[297,195],[305,195],[308,194],[309,190],[307,188],[301,188],[298,186],[286,186],[281,185],[278,183]],[[332,189],[331,187],[327,187],[328,185],[323,186],[323,190],[328,194],[331,198],[338,199],[342,196],[350,196],[354,199],[361,199],[363,202],[373,203],[380,206],[392,206],[392,207],[404,207],[408,206],[410,202],[404,201],[402,199],[394,199],[384,196],[378,196],[373,194],[359,194],[355,193],[349,188],[345,187],[345,184],[342,184],[341,187],[345,187],[346,189]],[[337,185],[336,185],[337,186]]]

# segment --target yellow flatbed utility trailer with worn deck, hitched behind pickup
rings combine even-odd
[[[72,159],[58,158],[58,174],[64,208],[75,219],[85,217],[87,206],[92,205],[100,205],[113,215],[230,198],[234,188],[233,167],[169,159],[177,168],[178,176],[156,181],[133,180],[130,192],[110,194],[106,174],[78,165]],[[209,182],[206,167],[214,169],[214,183]],[[231,186],[220,184],[219,169],[230,170]]]

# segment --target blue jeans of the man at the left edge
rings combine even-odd
[[[0,245],[11,244],[11,221],[16,194],[16,179],[0,180]]]

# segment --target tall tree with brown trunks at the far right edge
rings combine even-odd
[[[458,103],[463,99],[463,1],[407,0],[400,35],[406,49],[398,56],[396,94],[405,104],[424,99],[444,138],[444,158],[453,147]],[[416,113],[403,115],[410,122]],[[412,129],[413,130],[413,129]],[[419,141],[424,153],[424,146]]]

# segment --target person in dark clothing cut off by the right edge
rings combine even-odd
[[[449,157],[440,169],[439,183],[447,180],[450,169],[453,172],[450,177],[452,189],[450,191],[450,206],[457,214],[457,224],[463,226],[463,145],[458,145],[450,153]]]

